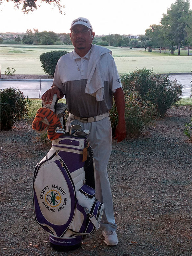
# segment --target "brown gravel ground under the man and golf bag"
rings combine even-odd
[[[108,173],[119,244],[105,245],[99,230],[67,253],[50,248],[34,219],[33,170],[49,148],[24,121],[1,131],[0,255],[191,256],[192,144],[183,134],[191,116],[189,107],[172,108],[142,138],[113,141]]]

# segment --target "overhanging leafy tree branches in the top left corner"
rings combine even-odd
[[[3,2],[12,1],[15,3],[15,8],[22,7],[23,13],[28,13],[29,11],[34,11],[37,9],[37,0],[0,0],[0,4]],[[62,14],[64,5],[60,4],[60,0],[41,0],[41,2],[45,2],[47,4],[53,4],[54,6],[58,7],[59,12]],[[38,5],[39,6],[39,5]]]

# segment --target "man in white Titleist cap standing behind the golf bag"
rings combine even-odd
[[[120,142],[126,137],[124,93],[110,50],[92,45],[95,33],[89,20],[82,17],[75,19],[70,30],[74,50],[59,59],[53,85],[42,96],[42,100],[52,100],[54,94],[58,98],[65,95],[70,112],[66,130],[69,130],[70,121],[76,119],[82,129],[90,131],[88,139],[94,152],[96,198],[104,203],[100,228],[105,243],[117,245],[117,225],[107,175],[107,163],[112,149],[109,110],[114,96],[118,111],[114,139]]]

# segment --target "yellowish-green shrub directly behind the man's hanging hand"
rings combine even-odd
[[[139,100],[140,94],[125,92],[125,121],[127,136],[138,137],[154,122],[155,106],[151,101]],[[110,111],[112,135],[118,124],[118,112],[115,103]]]

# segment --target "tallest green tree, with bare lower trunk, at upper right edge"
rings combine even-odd
[[[178,46],[178,55],[180,55],[182,42],[187,36],[186,25],[190,15],[189,7],[189,0],[177,0],[167,9],[167,14],[163,13],[163,18],[161,19],[161,24],[171,45]]]

